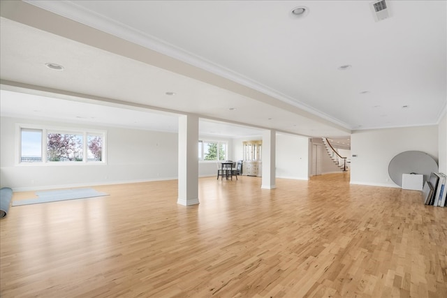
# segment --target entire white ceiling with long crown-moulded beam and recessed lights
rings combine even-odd
[[[230,121],[254,127],[247,135],[346,137],[437,124],[446,108],[446,1],[387,1],[380,22],[372,1],[26,2],[1,1],[1,88],[78,102],[74,121],[126,126],[115,112],[130,105],[122,115],[142,129],[176,130],[177,114],[193,113],[215,135]],[[18,103],[2,92],[2,115],[36,117],[6,100]]]

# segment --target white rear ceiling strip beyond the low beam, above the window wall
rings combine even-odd
[[[72,124],[95,124],[141,130],[178,131],[179,114],[142,109],[129,105],[104,105],[66,98],[54,98],[0,90],[3,117],[61,121]],[[262,130],[221,121],[200,119],[200,135],[206,137],[257,137]]]

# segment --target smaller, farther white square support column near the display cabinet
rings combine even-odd
[[[263,132],[263,177],[261,188],[276,188],[276,131]]]

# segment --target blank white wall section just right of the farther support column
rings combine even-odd
[[[308,147],[307,137],[277,133],[276,176],[307,180],[309,177]]]

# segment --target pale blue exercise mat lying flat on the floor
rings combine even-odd
[[[102,197],[108,193],[101,193],[93,188],[73,188],[61,191],[38,191],[36,195],[38,198],[13,201],[13,206]]]

